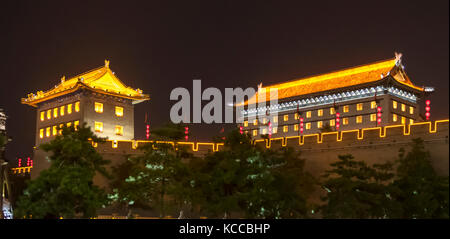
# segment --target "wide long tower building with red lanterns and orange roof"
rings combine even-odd
[[[407,125],[425,120],[420,103],[433,91],[413,84],[396,53],[392,59],[260,87],[237,105],[247,107],[240,111],[239,126],[261,138]],[[266,106],[257,105],[258,96]],[[270,105],[274,99],[278,102]]]

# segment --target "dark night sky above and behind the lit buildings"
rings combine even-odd
[[[448,117],[448,0],[61,2],[0,6],[0,108],[9,115],[10,159],[31,155],[34,146],[35,108],[20,99],[104,59],[125,84],[151,96],[136,107],[137,138],[145,135],[144,113],[152,126],[167,122],[170,91],[191,90],[192,79],[202,79],[202,88],[256,87],[394,51],[403,53],[415,84],[436,88],[432,118]],[[191,127],[191,138],[208,140],[219,129]]]

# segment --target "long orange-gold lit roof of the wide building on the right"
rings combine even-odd
[[[323,75],[311,76],[281,84],[266,86],[258,89],[258,92],[248,101],[244,102],[244,105],[255,104],[257,102],[258,95],[261,94],[266,94],[266,98],[265,100],[261,100],[262,102],[275,99],[274,93],[270,93],[271,89],[278,89],[278,100],[280,100],[294,96],[313,94],[322,91],[376,82],[382,80],[388,75],[388,73],[393,76],[395,81],[416,90],[423,91],[424,89],[422,87],[415,86],[409,80],[401,66],[396,65],[398,60],[399,58],[389,59]],[[242,103],[237,104],[237,106],[242,105]]]

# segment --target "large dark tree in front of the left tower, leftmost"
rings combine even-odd
[[[93,184],[98,172],[109,177],[103,160],[92,146],[101,142],[83,124],[63,127],[62,134],[49,143],[42,144],[42,150],[51,153],[51,165],[38,178],[31,180],[17,203],[18,218],[90,218],[97,209],[108,203],[105,191]]]

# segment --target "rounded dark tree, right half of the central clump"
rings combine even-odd
[[[244,193],[250,218],[303,218],[315,180],[304,171],[305,160],[292,148],[267,150],[251,159],[249,191]],[[256,170],[255,170],[256,169]],[[263,170],[261,170],[263,169]]]

